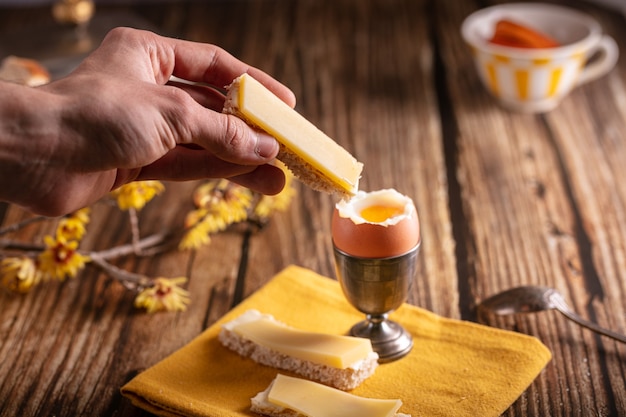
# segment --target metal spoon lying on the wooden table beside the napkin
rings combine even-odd
[[[603,329],[595,323],[582,319],[567,305],[565,299],[555,289],[548,287],[523,286],[511,288],[483,300],[477,307],[478,317],[485,313],[509,315],[534,313],[556,309],[565,317],[594,332],[626,343],[626,336]]]

